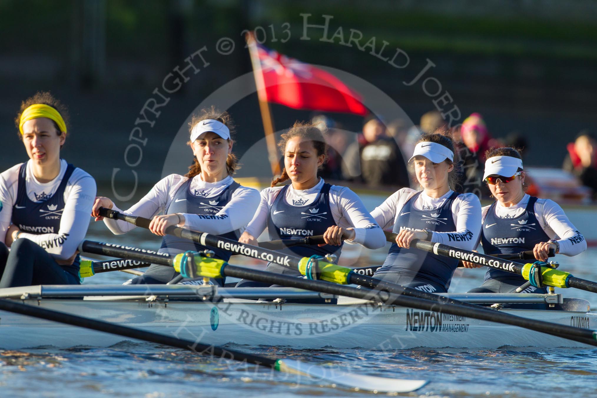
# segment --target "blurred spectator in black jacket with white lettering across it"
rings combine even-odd
[[[398,144],[387,136],[385,125],[373,115],[365,118],[362,134],[346,149],[342,167],[346,180],[370,186],[410,185]]]

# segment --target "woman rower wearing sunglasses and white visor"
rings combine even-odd
[[[484,180],[496,201],[482,209],[481,245],[485,254],[515,254],[533,250],[537,260],[546,261],[549,249],[568,256],[587,248],[583,235],[574,227],[558,203],[525,193],[525,172],[518,150],[487,151]],[[508,177],[505,177],[508,176]],[[464,262],[466,268],[481,267]],[[470,293],[509,293],[525,283],[522,276],[488,268],[485,281]],[[525,293],[545,293],[529,286]]]

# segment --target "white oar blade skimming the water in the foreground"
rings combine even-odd
[[[358,375],[292,359],[279,359],[277,365],[276,367],[282,372],[309,375],[312,378],[325,382],[376,393],[409,393],[410,391],[418,390],[428,382],[427,380],[392,379]]]

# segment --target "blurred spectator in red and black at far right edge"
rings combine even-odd
[[[576,175],[580,182],[593,190],[593,199],[597,194],[597,140],[589,131],[578,134],[573,143],[567,146],[568,155],[562,168]]]

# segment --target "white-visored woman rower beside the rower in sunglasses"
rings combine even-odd
[[[457,171],[450,138],[423,135],[411,161],[423,190],[402,188],[371,212],[383,229],[393,226],[398,235],[373,277],[421,291],[447,292],[458,260],[428,254],[410,244],[424,239],[473,249],[479,239],[481,203],[472,193],[458,195],[453,190]]]

